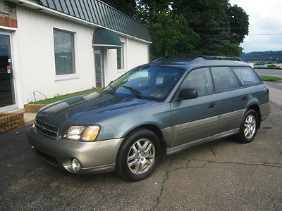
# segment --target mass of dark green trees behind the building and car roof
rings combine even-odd
[[[229,0],[105,0],[149,28],[152,59],[180,54],[240,56],[249,32],[243,8]]]

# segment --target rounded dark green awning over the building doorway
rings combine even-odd
[[[121,48],[121,39],[114,32],[99,28],[94,31],[92,45],[106,49]]]

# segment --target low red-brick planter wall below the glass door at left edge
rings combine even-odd
[[[18,129],[25,125],[25,121],[23,120],[23,113],[1,113],[1,115],[0,134],[12,129]]]

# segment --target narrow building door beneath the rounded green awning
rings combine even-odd
[[[104,87],[103,50],[94,49],[96,87]]]

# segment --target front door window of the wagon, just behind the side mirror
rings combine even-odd
[[[196,89],[198,96],[204,96],[212,93],[212,77],[209,68],[192,70],[185,78],[181,89]]]

